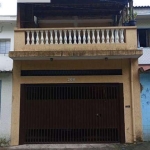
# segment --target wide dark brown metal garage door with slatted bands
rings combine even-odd
[[[20,144],[124,142],[122,84],[21,85]]]

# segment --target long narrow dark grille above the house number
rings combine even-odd
[[[122,70],[121,69],[21,70],[21,76],[81,76],[81,75],[122,75]]]

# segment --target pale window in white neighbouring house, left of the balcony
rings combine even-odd
[[[0,54],[8,54],[10,51],[10,39],[0,39]]]

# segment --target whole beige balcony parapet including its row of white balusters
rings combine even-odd
[[[15,51],[135,50],[136,27],[15,29]]]

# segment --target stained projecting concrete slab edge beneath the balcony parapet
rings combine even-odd
[[[141,50],[11,51],[9,57],[14,60],[127,59],[139,58],[142,54]]]

